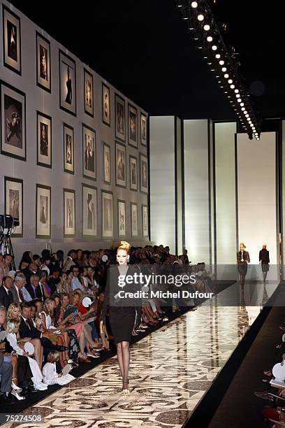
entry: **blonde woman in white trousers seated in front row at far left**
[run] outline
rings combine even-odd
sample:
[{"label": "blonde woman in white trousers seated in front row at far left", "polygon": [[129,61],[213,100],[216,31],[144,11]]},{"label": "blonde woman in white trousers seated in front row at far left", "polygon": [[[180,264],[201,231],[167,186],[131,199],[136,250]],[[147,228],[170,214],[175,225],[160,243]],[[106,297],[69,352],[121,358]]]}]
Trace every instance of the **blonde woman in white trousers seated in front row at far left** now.
[{"label": "blonde woman in white trousers seated in front row at far left", "polygon": [[35,390],[44,391],[47,389],[47,386],[42,382],[43,376],[38,366],[38,363],[36,362],[36,359],[31,358],[29,354],[17,344],[17,334],[19,331],[19,327],[20,322],[18,322],[17,320],[8,320],[6,325],[7,341],[10,343],[10,346],[13,348],[13,350],[15,350],[17,355],[22,355],[23,357],[27,357],[29,359],[29,366],[31,369],[31,373],[33,374],[31,380],[34,383],[34,388]]}]

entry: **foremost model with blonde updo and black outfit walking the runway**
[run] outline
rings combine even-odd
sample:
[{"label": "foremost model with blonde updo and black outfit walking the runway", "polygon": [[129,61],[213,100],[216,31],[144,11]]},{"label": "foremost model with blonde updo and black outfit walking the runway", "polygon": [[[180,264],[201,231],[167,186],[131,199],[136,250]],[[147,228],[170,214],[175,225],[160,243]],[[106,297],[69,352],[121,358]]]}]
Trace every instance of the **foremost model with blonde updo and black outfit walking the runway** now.
[{"label": "foremost model with blonde updo and black outfit walking the runway", "polygon": [[139,290],[139,285],[135,283],[122,285],[122,279],[125,278],[126,274],[128,277],[133,276],[136,269],[134,266],[128,266],[130,248],[131,245],[126,241],[119,243],[117,248],[117,262],[119,265],[110,268],[101,315],[101,319],[105,322],[105,314],[109,307],[110,327],[117,346],[119,369],[123,380],[123,395],[129,394],[129,343],[136,318],[136,306],[139,305],[138,299],[124,298],[125,293],[133,293]]}]

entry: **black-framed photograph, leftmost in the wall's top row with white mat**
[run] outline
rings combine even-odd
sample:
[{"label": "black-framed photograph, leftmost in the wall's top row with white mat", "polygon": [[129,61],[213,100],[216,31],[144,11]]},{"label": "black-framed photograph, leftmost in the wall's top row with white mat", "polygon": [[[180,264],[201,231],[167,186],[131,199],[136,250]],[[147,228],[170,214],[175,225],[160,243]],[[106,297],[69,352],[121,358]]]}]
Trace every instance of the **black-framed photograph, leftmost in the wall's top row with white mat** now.
[{"label": "black-framed photograph, leftmost in the wall's top row with white mat", "polygon": [[3,5],[3,63],[21,75],[21,61],[20,17]]}]

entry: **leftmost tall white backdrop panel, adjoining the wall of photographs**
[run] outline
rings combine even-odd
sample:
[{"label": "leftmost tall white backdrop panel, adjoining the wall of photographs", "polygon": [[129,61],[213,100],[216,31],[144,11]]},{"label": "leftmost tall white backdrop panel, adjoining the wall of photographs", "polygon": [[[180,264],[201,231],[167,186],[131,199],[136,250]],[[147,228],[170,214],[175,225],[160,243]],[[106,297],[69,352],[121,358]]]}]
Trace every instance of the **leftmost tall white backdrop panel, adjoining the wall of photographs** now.
[{"label": "leftmost tall white backdrop panel, adjoining the wall of photographs", "polygon": [[175,117],[149,117],[151,240],[175,254]]}]

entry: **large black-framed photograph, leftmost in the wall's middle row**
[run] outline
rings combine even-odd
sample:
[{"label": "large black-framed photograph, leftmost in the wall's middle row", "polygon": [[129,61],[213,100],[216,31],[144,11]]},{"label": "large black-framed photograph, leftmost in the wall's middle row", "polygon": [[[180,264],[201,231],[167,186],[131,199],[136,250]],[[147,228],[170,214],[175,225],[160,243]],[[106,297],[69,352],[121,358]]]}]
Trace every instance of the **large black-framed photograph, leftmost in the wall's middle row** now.
[{"label": "large black-framed photograph, leftmost in the wall's middle row", "polygon": [[1,154],[26,160],[26,95],[1,82]]}]

